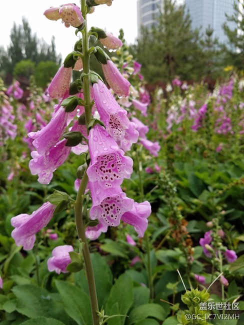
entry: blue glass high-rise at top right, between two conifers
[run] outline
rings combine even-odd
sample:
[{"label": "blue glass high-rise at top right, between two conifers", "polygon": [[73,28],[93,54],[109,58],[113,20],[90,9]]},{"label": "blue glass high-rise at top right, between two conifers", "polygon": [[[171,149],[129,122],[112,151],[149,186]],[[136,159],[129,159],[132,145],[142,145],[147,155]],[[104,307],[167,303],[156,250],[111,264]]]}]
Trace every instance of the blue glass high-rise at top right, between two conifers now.
[{"label": "blue glass high-rise at top right, between two conifers", "polygon": [[234,0],[185,0],[185,10],[189,12],[192,29],[201,28],[204,33],[210,26],[213,29],[213,37],[217,37],[220,43],[227,42],[222,25],[227,22],[230,29],[235,28],[234,22],[227,21],[225,13],[231,16]]}]

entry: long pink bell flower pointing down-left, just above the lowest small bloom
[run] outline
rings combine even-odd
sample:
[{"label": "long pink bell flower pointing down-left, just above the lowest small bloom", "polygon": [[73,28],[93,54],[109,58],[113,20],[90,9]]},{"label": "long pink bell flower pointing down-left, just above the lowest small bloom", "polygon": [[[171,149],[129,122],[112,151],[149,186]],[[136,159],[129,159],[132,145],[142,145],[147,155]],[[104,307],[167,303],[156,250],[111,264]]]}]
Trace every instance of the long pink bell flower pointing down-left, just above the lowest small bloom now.
[{"label": "long pink bell flower pointing down-left, just above the lowest small bloom", "polygon": [[11,236],[17,246],[22,245],[23,249],[33,248],[35,233],[45,227],[52,218],[55,205],[45,202],[30,215],[21,213],[11,218],[11,225],[14,227]]}]

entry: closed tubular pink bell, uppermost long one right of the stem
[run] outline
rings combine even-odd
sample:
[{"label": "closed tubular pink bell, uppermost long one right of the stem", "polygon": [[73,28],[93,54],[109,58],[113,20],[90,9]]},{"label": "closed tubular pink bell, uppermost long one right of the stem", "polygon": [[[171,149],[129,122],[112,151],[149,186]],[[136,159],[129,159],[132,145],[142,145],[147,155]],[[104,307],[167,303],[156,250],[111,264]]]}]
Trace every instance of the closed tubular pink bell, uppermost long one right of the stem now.
[{"label": "closed tubular pink bell, uppermost long one right of the stem", "polygon": [[130,83],[118,71],[116,65],[107,60],[106,64],[101,64],[102,71],[107,83],[118,96],[128,96]]}]

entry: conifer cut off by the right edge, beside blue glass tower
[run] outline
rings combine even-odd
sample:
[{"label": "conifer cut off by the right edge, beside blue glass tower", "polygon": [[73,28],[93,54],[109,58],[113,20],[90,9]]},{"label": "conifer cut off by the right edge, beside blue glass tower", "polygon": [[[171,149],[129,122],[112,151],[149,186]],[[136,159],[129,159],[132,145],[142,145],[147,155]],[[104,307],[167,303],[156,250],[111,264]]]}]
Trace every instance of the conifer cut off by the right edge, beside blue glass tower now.
[{"label": "conifer cut off by the right edge, beside blue glass tower", "polygon": [[235,0],[233,4],[234,13],[226,15],[228,21],[235,23],[235,28],[231,29],[226,23],[223,29],[228,37],[229,45],[225,46],[226,61],[231,62],[237,69],[243,70],[244,64],[244,2]]}]

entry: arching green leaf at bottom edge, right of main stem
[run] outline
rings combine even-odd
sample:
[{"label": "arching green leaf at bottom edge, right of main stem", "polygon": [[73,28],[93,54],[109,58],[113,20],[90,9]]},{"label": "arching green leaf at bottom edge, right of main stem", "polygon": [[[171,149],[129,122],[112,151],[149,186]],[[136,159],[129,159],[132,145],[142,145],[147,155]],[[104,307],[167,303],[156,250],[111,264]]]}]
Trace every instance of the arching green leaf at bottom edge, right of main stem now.
[{"label": "arching green leaf at bottom edge, right of main stem", "polygon": [[146,303],[132,309],[129,314],[128,325],[135,324],[139,320],[147,317],[157,318],[163,320],[166,317],[164,308],[157,303]]}]

